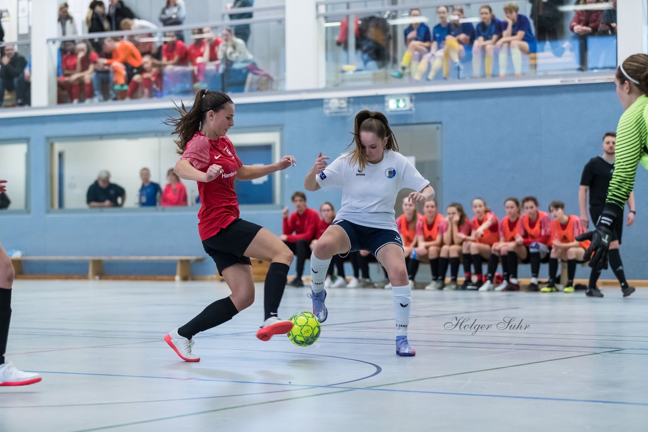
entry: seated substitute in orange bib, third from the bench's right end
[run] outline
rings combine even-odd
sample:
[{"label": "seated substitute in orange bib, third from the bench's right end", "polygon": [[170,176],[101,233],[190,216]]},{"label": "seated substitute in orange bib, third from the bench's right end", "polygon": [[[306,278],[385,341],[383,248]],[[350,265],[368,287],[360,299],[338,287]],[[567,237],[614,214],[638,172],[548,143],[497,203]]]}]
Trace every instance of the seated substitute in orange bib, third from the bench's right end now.
[{"label": "seated substitute in orange bib, third from the bench's right end", "polygon": [[[509,249],[515,249],[515,238],[520,233],[520,201],[517,198],[507,198],[504,201],[506,216],[500,221],[500,241],[491,247],[491,258],[488,263],[487,281],[480,291],[503,291],[509,284]],[[493,286],[497,264],[502,260],[502,284]]]}]

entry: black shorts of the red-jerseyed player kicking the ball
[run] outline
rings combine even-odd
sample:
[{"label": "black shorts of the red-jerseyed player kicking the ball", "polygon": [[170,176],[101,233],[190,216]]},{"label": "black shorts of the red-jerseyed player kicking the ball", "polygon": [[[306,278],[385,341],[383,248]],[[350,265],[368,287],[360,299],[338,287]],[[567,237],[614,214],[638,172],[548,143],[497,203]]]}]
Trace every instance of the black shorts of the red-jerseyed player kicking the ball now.
[{"label": "black shorts of the red-jerseyed player kicking the ball", "polygon": [[252,265],[249,258],[243,254],[261,228],[256,223],[237,219],[216,235],[203,240],[205,252],[216,263],[219,275],[222,276],[223,270],[234,264]]}]

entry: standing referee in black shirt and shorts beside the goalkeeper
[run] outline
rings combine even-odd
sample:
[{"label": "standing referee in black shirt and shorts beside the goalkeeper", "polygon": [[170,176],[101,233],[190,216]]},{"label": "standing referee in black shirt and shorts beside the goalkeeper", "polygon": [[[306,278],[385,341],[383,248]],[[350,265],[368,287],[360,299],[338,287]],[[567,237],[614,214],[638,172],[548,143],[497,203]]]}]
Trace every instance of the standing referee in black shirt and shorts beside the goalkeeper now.
[{"label": "standing referee in black shirt and shorts beside the goalkeeper", "polygon": [[[590,220],[587,217],[587,192],[590,192],[590,211],[591,220],[596,223],[603,212],[605,207],[605,199],[607,197],[607,190],[612,179],[614,172],[614,146],[616,144],[616,133],[606,132],[603,135],[603,154],[593,157],[583,168],[583,175],[581,176],[581,187],[578,192],[578,203],[581,209],[581,225],[583,228],[588,228]],[[627,216],[627,225],[630,226],[634,223],[635,207],[634,207],[634,192],[631,192],[628,198],[628,208],[630,212]],[[627,292],[629,285],[625,280],[625,273],[623,272],[623,264],[621,263],[621,255],[619,255],[619,245],[621,244],[621,233],[623,231],[623,223],[617,223],[614,231],[612,231],[610,249],[608,258],[610,266],[616,279],[621,284],[621,290]],[[603,297],[603,293],[597,288],[596,282],[601,275],[600,269],[592,269],[590,273],[590,281],[585,294],[589,297]],[[634,291],[632,288],[631,291]]]}]

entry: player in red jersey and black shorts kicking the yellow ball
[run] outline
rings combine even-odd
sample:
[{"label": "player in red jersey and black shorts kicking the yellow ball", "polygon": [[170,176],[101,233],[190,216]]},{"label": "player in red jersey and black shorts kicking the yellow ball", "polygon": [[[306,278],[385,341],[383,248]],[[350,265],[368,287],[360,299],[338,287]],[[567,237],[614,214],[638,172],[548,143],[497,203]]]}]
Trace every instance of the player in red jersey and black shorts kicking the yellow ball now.
[{"label": "player in red jersey and black shorts kicking the yellow ball", "polygon": [[209,304],[189,323],[165,336],[165,341],[185,361],[200,361],[192,353],[192,337],[226,321],[254,301],[254,282],[249,257],[269,261],[264,287],[265,318],[257,337],[267,341],[275,334],[286,334],[291,321],[277,316],[286,286],[286,275],[293,255],[277,236],[239,216],[234,179],[251,180],[295,165],[295,158],[284,156],[272,165],[243,165],[226,134],[234,126],[234,103],[222,91],[201,89],[187,111],[178,108],[179,119],[165,123],[174,126],[181,154],[174,172],[185,180],[198,182],[202,207],[198,212],[198,232],[205,252],[232,291],[229,297]]}]

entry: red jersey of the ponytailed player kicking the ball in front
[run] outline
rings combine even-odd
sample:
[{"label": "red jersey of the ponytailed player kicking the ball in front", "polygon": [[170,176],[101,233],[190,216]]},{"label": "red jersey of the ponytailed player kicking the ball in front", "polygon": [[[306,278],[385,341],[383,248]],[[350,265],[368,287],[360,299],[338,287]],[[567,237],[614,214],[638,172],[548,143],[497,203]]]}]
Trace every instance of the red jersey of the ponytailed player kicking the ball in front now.
[{"label": "red jersey of the ponytailed player kicking the ball in front", "polygon": [[200,132],[196,132],[187,142],[180,160],[191,162],[196,170],[202,172],[207,172],[207,168],[214,163],[223,168],[223,174],[209,183],[197,182],[202,203],[198,212],[198,232],[200,240],[207,240],[240,216],[234,177],[243,163],[238,159],[229,138],[220,137],[214,141]]}]

